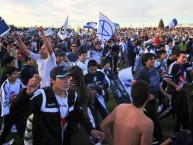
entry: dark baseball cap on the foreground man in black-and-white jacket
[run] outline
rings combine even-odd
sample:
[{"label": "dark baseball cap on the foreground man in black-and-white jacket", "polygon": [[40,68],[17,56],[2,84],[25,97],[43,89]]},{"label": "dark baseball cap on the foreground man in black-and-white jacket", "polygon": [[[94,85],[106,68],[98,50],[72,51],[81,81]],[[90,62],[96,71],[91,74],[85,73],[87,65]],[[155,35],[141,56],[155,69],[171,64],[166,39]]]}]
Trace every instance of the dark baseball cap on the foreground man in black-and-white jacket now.
[{"label": "dark baseball cap on the foreground man in black-and-white jacket", "polygon": [[72,76],[72,74],[66,70],[64,66],[56,66],[50,71],[50,78],[64,78],[66,76]]}]

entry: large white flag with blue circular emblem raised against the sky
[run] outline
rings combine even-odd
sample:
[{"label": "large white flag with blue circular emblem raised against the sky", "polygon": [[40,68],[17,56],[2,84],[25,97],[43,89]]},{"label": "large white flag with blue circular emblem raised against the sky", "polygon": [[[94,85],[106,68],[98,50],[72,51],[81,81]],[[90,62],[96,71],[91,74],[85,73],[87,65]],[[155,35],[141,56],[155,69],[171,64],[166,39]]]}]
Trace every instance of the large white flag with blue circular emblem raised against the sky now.
[{"label": "large white flag with blue circular emblem raised against the sky", "polygon": [[109,40],[113,36],[115,31],[114,23],[111,22],[105,15],[100,13],[97,36],[101,42]]}]

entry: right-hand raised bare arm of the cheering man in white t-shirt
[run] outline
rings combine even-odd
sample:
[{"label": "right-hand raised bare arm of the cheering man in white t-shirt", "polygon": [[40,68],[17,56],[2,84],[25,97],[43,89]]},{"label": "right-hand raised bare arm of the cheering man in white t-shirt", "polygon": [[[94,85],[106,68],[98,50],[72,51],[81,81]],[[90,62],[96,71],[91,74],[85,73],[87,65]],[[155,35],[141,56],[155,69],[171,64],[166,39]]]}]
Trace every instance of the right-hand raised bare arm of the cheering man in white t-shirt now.
[{"label": "right-hand raised bare arm of the cheering man in white t-shirt", "polygon": [[48,54],[51,55],[53,53],[52,45],[50,41],[47,39],[47,37],[44,34],[44,28],[42,26],[38,27],[38,31],[40,32],[40,35],[44,41],[44,45],[46,46],[46,49],[48,51]]}]

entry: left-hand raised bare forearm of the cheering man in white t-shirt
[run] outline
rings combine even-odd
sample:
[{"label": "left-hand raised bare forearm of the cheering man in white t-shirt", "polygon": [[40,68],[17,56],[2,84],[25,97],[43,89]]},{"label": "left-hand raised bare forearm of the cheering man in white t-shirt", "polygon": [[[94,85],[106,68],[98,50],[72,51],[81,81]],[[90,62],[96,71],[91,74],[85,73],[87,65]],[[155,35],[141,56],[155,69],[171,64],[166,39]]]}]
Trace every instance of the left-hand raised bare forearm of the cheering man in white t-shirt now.
[{"label": "left-hand raised bare forearm of the cheering man in white t-shirt", "polygon": [[21,40],[21,37],[16,33],[12,33],[12,37],[17,41],[20,49],[23,51],[24,55],[29,56],[30,55],[30,50],[27,48],[27,46],[23,43]]}]

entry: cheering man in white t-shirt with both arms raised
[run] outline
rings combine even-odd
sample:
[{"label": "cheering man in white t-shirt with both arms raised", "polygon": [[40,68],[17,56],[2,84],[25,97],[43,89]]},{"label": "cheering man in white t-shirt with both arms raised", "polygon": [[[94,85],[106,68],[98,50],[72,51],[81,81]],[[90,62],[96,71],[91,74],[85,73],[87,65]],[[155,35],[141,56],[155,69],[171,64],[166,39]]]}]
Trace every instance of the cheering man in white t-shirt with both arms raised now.
[{"label": "cheering man in white t-shirt with both arms raised", "polygon": [[16,32],[13,32],[12,36],[18,42],[23,53],[26,56],[29,56],[30,58],[34,59],[38,64],[38,72],[41,77],[40,87],[42,88],[50,86],[50,70],[56,66],[56,57],[49,40],[44,34],[43,27],[40,26],[38,28],[38,31],[40,32],[40,35],[44,41],[44,44],[39,51],[39,54],[30,51]]}]

